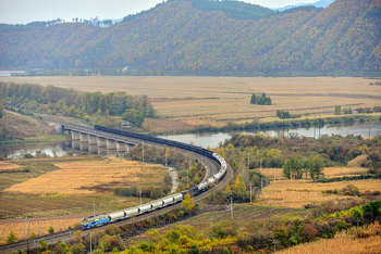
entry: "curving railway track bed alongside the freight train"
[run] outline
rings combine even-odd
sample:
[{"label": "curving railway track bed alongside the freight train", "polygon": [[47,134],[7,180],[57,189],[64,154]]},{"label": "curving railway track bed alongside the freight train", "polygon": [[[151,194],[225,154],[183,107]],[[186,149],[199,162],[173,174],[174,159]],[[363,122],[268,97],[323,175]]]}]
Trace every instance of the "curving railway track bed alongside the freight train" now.
[{"label": "curving railway track bed alongside the freight train", "polygon": [[[159,147],[162,145],[160,143],[155,143],[155,142],[150,142],[150,143],[155,144],[155,145],[159,145]],[[165,145],[170,147],[168,144],[165,144]],[[219,172],[220,165],[218,165],[216,161],[212,161],[211,158],[209,158],[205,155],[198,154],[194,151],[188,151],[186,149],[179,149],[179,148],[176,148],[176,149],[186,153],[187,155],[190,155],[190,156],[197,158],[198,161],[200,161],[204,164],[204,166],[206,166],[207,174],[206,174],[204,180],[207,179],[209,176],[212,176]],[[198,202],[202,201],[204,199],[206,199],[210,193],[224,189],[231,179],[233,179],[233,170],[228,165],[225,177],[216,187],[200,193],[199,195],[196,195],[194,198],[195,202],[198,203]],[[177,203],[177,204],[174,204],[172,206],[161,208],[159,211],[153,211],[151,213],[144,214],[144,215],[140,215],[140,216],[137,216],[134,218],[130,218],[126,220],[114,223],[113,225],[122,226],[122,225],[133,224],[136,221],[142,221],[142,220],[148,219],[148,218],[153,217],[153,216],[162,215],[162,214],[164,214],[164,213],[167,213],[175,207],[179,207],[180,205],[181,205],[181,203]],[[103,229],[105,229],[105,226],[99,227],[99,228],[93,228],[93,229],[89,229],[86,231],[82,231],[82,230],[81,231],[82,231],[82,236],[86,237],[93,232],[100,231]],[[29,240],[19,241],[19,242],[12,243],[12,244],[0,245],[0,253],[10,253],[10,252],[17,252],[17,251],[25,252],[28,250],[35,250],[35,249],[39,247],[40,240],[44,240],[49,245],[56,244],[56,243],[59,243],[62,241],[67,242],[71,240],[71,238],[73,237],[75,231],[78,231],[78,230],[65,230],[65,231],[61,231],[61,232],[57,232],[57,233],[52,233],[52,234],[47,234],[47,236],[41,236],[41,237],[29,239]]]}]

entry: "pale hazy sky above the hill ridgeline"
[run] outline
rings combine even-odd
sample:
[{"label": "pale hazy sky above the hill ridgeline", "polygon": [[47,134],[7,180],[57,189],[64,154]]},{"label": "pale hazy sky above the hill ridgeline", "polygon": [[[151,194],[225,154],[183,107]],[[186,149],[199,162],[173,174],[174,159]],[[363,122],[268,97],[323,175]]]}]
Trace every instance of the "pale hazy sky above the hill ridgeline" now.
[{"label": "pale hazy sky above the hill ridgeline", "polygon": [[[244,0],[268,8],[279,8],[318,0]],[[163,0],[0,0],[0,23],[25,24],[73,17],[120,18],[150,9]]]}]

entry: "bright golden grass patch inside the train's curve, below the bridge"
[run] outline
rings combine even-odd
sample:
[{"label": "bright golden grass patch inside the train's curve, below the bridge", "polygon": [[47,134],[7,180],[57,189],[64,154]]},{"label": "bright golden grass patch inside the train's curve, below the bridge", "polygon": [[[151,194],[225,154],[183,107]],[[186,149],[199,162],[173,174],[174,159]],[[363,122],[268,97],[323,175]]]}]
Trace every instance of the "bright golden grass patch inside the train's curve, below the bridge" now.
[{"label": "bright golden grass patch inside the train's curve, below the bridge", "polygon": [[167,169],[122,158],[56,163],[61,169],[14,185],[5,192],[28,194],[90,194],[97,186],[110,188],[162,182]]}]

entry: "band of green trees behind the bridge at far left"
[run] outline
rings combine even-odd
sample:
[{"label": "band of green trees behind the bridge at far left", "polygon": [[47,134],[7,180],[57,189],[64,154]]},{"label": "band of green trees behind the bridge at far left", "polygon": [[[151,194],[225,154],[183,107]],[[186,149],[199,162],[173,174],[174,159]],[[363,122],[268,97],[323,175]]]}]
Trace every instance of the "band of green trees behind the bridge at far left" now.
[{"label": "band of green trees behind the bridge at far left", "polygon": [[0,82],[0,99],[7,109],[24,114],[61,114],[91,123],[101,120],[106,125],[112,116],[123,117],[136,126],[140,126],[145,117],[155,116],[155,110],[147,97],[132,97],[124,92],[102,94]]}]

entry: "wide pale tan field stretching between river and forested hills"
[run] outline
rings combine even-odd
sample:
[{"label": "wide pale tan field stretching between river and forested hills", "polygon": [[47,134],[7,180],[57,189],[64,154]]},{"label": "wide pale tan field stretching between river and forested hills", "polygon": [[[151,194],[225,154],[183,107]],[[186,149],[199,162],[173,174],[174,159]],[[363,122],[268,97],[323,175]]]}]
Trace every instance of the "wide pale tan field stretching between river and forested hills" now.
[{"label": "wide pale tan field stretching between river and forested hills", "polygon": [[[29,82],[83,91],[125,91],[148,96],[165,119],[179,125],[269,120],[276,110],[294,114],[329,116],[334,105],[380,105],[381,87],[372,79],[353,77],[0,77],[0,81]],[[266,92],[273,105],[250,105],[251,93]],[[176,128],[165,119],[161,125]],[[150,124],[148,128],[156,129]],[[179,126],[177,126],[179,127]]]}]

